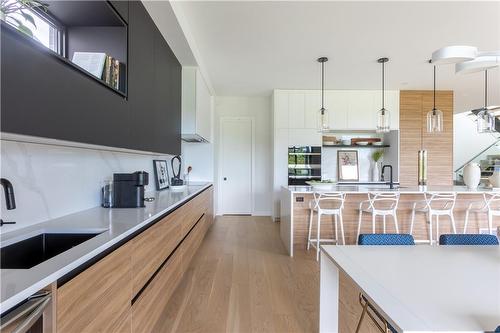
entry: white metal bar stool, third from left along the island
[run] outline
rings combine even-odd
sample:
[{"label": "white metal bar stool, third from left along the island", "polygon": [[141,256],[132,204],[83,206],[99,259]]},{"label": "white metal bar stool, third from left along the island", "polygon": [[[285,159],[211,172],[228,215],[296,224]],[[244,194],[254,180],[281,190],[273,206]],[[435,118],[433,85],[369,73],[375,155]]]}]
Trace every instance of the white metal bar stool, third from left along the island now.
[{"label": "white metal bar stool, third from left along the island", "polygon": [[[439,239],[439,217],[448,216],[450,219],[451,228],[453,233],[457,233],[457,227],[455,226],[455,218],[453,216],[453,208],[455,208],[455,202],[457,199],[457,194],[454,192],[441,192],[441,193],[424,193],[424,200],[417,201],[413,203],[411,210],[411,223],[410,223],[410,235],[413,236],[413,226],[415,224],[415,214],[424,213],[427,216],[427,222],[429,223],[429,239],[428,240],[415,240],[415,242],[429,242],[433,244]],[[433,217],[436,217],[436,241],[432,237],[433,228]]]}]

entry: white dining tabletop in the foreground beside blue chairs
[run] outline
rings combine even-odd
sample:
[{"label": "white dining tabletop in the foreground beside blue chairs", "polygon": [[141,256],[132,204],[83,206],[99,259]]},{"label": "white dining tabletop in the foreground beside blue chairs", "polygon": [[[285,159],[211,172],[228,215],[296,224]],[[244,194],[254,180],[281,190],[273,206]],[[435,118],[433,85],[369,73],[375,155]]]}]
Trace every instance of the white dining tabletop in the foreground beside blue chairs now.
[{"label": "white dining tabletop in the foreground beside blue chairs", "polygon": [[498,246],[322,246],[398,332],[500,325]]}]

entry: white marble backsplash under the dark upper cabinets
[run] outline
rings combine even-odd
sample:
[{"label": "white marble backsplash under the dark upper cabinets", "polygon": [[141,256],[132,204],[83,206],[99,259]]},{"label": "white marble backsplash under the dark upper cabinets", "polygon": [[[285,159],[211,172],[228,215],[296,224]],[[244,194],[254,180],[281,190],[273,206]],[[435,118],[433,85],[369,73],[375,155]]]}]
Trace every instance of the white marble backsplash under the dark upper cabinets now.
[{"label": "white marble backsplash under the dark upper cabinets", "polygon": [[14,186],[17,208],[6,210],[1,193],[1,216],[7,232],[100,205],[100,189],[116,172],[146,171],[155,189],[153,159],[172,156],[112,152],[46,144],[0,141],[1,176]]}]

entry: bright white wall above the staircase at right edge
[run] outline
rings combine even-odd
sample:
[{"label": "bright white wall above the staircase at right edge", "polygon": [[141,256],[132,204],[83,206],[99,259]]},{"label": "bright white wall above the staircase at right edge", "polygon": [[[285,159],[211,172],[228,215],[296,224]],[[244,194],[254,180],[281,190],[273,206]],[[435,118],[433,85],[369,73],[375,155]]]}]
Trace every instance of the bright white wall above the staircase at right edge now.
[{"label": "bright white wall above the staircase at right edge", "polygon": [[498,135],[479,134],[470,112],[453,115],[453,170],[495,142]]}]

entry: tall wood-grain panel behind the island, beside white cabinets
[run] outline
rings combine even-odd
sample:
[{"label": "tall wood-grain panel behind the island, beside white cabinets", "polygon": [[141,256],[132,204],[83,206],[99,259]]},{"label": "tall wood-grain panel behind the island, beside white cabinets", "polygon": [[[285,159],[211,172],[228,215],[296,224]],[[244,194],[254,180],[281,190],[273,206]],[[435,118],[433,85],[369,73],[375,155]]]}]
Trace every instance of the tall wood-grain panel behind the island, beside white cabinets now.
[{"label": "tall wood-grain panel behind the island, beside white cabinets", "polygon": [[437,91],[436,107],[443,112],[444,131],[427,133],[427,112],[433,107],[433,92],[400,92],[400,183],[417,185],[417,152],[427,150],[428,185],[453,184],[453,91]]}]

